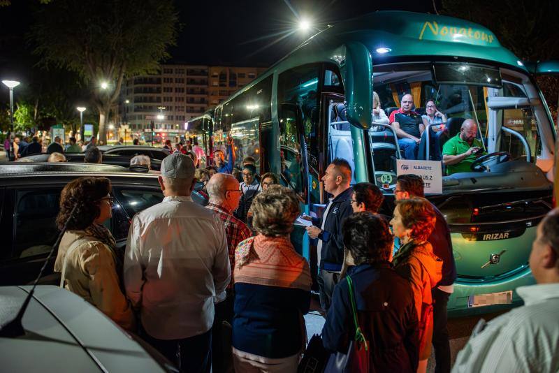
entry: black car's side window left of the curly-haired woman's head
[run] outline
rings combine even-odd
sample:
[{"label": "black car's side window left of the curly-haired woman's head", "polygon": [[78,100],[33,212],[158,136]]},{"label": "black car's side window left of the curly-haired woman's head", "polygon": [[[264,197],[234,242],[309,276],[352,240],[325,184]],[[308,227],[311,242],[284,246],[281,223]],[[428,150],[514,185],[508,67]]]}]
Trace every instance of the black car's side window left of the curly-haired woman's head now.
[{"label": "black car's side window left of the curly-haired woman's head", "polygon": [[12,258],[48,253],[59,234],[56,217],[61,188],[17,191]]}]

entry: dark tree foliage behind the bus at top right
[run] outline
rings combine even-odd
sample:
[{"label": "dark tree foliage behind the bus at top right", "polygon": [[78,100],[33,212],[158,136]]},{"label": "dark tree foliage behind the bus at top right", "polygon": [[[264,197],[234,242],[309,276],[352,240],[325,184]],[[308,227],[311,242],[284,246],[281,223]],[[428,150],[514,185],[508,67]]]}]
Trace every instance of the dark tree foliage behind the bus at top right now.
[{"label": "dark tree foliage behind the bus at top right", "polygon": [[[500,43],[525,61],[559,59],[559,1],[442,0],[441,13],[487,27]],[[552,110],[557,110],[559,79],[538,78]]]}]

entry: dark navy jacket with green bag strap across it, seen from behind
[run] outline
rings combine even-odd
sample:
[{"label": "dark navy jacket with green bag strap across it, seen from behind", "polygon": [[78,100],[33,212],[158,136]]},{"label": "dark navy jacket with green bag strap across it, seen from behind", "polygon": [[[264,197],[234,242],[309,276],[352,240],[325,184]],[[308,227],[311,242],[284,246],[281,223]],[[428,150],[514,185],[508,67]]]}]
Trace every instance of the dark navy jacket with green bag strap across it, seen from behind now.
[{"label": "dark navy jacket with green bag strap across it, seen from behind", "polygon": [[[409,282],[389,262],[350,267],[357,319],[369,344],[370,372],[416,372],[419,323]],[[322,329],[328,351],[347,353],[355,337],[347,279],[334,288],[332,305]]]}]

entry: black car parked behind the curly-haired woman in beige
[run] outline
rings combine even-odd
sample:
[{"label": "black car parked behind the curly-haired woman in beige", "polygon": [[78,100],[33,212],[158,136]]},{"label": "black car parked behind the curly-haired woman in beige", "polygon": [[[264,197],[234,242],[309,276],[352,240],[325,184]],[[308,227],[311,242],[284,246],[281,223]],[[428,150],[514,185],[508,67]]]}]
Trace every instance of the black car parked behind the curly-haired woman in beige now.
[{"label": "black car parked behind the curly-haired woman in beige", "polygon": [[[129,173],[117,166],[87,163],[3,163],[0,165],[0,286],[34,281],[55,243],[59,230],[60,192],[82,176],[108,177],[112,182],[112,218],[106,226],[124,249],[131,219],[136,212],[161,202],[163,193],[157,175]],[[192,193],[196,203],[207,201]],[[56,284],[53,256],[42,284]]]}]

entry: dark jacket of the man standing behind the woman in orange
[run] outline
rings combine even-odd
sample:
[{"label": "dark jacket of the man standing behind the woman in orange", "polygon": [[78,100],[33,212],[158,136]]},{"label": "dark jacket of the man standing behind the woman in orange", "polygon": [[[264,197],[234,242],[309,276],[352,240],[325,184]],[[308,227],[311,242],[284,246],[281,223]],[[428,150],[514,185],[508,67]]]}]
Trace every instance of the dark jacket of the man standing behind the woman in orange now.
[{"label": "dark jacket of the man standing behind the woman in orange", "polygon": [[442,279],[438,285],[452,285],[456,279],[456,263],[452,251],[450,228],[442,213],[433,205],[437,222],[433,232],[427,239],[433,246],[433,254],[442,259]]}]

